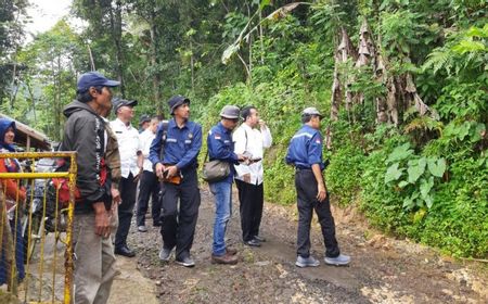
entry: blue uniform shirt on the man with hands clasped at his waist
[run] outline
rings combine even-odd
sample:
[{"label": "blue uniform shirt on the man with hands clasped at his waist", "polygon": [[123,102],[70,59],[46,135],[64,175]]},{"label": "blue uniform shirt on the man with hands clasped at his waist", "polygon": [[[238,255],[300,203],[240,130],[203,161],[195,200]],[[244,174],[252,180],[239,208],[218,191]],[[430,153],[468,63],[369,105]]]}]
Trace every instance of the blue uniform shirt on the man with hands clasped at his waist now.
[{"label": "blue uniform shirt on the man with hands clasped at his waist", "polygon": [[160,160],[163,132],[163,124],[159,124],[150,148],[149,160],[153,165],[157,163],[176,165],[179,170],[196,168],[198,166],[196,157],[202,148],[202,126],[187,122],[182,128],[179,128],[175,119],[170,119],[166,134],[165,155],[164,160]]}]

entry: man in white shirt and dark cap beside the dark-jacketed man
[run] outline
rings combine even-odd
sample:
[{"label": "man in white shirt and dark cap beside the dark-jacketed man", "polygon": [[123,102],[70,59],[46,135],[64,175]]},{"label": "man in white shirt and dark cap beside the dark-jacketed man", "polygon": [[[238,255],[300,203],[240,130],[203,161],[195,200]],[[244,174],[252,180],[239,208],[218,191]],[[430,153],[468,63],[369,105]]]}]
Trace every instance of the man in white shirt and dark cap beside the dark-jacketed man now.
[{"label": "man in white shirt and dark cap beside the dark-jacketed man", "polygon": [[111,128],[115,132],[120,152],[119,191],[121,203],[118,206],[118,228],[115,233],[114,253],[127,257],[136,256],[136,253],[127,245],[130,220],[132,219],[133,205],[136,204],[137,179],[142,173],[142,153],[139,149],[139,132],[132,127],[133,106],[136,100],[118,99],[114,101],[114,112],[117,118],[111,122]]}]

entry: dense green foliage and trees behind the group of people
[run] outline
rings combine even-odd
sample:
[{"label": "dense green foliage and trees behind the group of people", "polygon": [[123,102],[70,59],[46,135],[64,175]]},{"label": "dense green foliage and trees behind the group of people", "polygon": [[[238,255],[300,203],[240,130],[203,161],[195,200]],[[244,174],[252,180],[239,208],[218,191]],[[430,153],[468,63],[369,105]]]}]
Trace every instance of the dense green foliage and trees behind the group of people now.
[{"label": "dense green foliage and trees behind the group of people", "polygon": [[267,199],[292,204],[283,157],[299,112],[317,106],[331,113],[322,127],[336,202],[393,235],[486,257],[486,1],[291,2],[75,0],[88,27],[62,21],[17,50],[26,69],[1,111],[59,139],[60,109],[92,68],[123,80],[118,93],[140,100],[138,113],[189,96],[205,129],[224,104],[255,104],[274,139]]}]

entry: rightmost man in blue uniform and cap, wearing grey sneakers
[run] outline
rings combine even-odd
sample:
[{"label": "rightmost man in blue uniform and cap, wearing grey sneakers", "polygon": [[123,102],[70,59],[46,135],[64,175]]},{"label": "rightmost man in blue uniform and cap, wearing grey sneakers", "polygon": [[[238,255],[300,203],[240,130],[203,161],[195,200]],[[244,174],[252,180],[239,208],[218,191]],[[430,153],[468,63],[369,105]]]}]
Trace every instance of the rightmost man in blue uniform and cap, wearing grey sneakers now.
[{"label": "rightmost man in blue uniform and cap, wearing grey sneakers", "polygon": [[298,206],[297,259],[298,267],[317,267],[320,262],[310,255],[310,224],[313,210],[319,218],[325,243],[324,262],[328,265],[345,266],[350,257],[341,254],[335,238],[329,194],[322,177],[322,115],[316,107],[307,107],[301,113],[301,128],[292,138],[286,153],[286,164],[295,166],[295,188]]}]

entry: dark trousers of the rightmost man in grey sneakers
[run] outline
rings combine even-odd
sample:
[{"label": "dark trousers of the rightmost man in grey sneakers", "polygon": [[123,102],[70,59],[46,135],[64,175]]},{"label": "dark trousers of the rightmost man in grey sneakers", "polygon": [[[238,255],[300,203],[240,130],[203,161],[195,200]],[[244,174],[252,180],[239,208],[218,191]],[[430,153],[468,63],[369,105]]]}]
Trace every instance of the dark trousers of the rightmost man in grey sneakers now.
[{"label": "dark trousers of the rightmost man in grey sneakers", "polygon": [[336,257],[341,251],[335,238],[335,224],[331,213],[329,193],[325,201],[317,201],[317,180],[311,169],[296,170],[295,187],[298,200],[297,254],[303,257],[310,255],[310,224],[314,210],[322,228],[325,255]]}]

